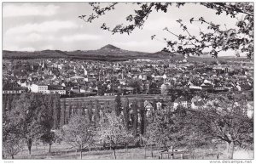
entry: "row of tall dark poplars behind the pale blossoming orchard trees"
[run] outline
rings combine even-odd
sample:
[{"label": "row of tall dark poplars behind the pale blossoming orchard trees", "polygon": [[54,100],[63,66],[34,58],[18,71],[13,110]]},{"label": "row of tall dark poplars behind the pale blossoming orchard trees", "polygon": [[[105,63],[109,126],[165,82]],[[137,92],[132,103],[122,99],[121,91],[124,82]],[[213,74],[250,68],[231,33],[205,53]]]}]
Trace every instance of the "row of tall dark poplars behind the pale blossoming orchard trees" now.
[{"label": "row of tall dark poplars behind the pale blossoming orchard trees", "polygon": [[[157,110],[156,100],[154,99],[150,105],[153,105],[153,110]],[[152,111],[148,112],[150,115]],[[114,101],[106,101],[103,105],[99,100],[90,102],[72,100],[61,102],[61,125],[65,125],[69,122],[73,115],[89,117],[90,121],[98,122],[108,113],[114,112],[116,116],[122,116],[124,125],[127,130],[131,130],[134,136],[143,134],[146,128],[146,110],[144,106],[144,99],[123,101],[118,94]],[[64,119],[64,120],[63,120]]]}]

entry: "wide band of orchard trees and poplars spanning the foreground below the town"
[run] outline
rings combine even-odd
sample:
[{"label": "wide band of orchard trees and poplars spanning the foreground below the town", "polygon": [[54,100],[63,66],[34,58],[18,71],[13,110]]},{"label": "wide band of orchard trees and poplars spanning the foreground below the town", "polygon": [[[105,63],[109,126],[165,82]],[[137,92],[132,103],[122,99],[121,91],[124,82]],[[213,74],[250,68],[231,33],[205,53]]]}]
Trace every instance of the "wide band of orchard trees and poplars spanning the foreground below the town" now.
[{"label": "wide band of orchard trees and poplars spanning the foreground below the town", "polygon": [[69,105],[67,115],[61,112],[58,94],[23,93],[4,99],[8,103],[3,113],[3,154],[12,158],[24,145],[31,155],[36,141],[49,144],[49,151],[52,144],[65,142],[79,150],[81,158],[84,149],[110,147],[115,159],[117,147],[134,144],[194,150],[226,143],[229,159],[236,146],[253,149],[253,109],[236,94],[210,94],[195,110],[157,108],[154,101],[149,111],[143,99],[122,102],[118,94],[105,105],[98,100],[86,108],[81,102]]}]

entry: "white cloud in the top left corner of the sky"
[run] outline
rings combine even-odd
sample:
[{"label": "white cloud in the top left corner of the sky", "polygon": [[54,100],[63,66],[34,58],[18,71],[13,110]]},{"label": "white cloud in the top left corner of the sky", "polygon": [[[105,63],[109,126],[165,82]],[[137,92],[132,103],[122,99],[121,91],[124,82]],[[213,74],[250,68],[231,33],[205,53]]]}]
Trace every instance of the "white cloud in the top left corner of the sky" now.
[{"label": "white cloud in the top left corner of the sky", "polygon": [[51,16],[57,12],[58,8],[60,7],[53,4],[40,6],[32,3],[23,3],[22,5],[3,3],[3,17]]}]

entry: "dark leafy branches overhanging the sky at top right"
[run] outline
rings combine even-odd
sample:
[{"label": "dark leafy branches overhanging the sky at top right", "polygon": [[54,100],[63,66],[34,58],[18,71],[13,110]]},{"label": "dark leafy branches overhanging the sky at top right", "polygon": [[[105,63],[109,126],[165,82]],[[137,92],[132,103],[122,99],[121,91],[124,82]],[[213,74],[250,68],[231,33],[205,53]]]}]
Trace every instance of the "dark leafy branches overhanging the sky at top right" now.
[{"label": "dark leafy branches overhanging the sky at top right", "polygon": [[[128,25],[115,25],[110,28],[106,23],[103,23],[101,28],[105,31],[110,31],[113,34],[130,34],[135,29],[143,29],[143,25],[148,19],[153,10],[167,13],[170,6],[181,8],[187,3],[134,3],[139,9],[135,9],[135,14],[130,14],[126,17]],[[198,3],[195,3],[198,4]],[[231,19],[236,19],[236,27],[227,29],[226,25],[214,24],[211,21],[205,20],[203,17],[192,17],[189,22],[191,24],[205,25],[206,31],[201,31],[197,36],[192,35],[189,31],[188,25],[183,20],[177,20],[185,34],[177,34],[167,27],[164,31],[176,37],[176,40],[164,38],[166,42],[166,50],[178,54],[212,54],[218,57],[218,53],[226,50],[236,51],[236,55],[241,53],[247,54],[247,58],[251,59],[253,56],[253,3],[199,3],[200,5],[213,9],[216,15],[226,14]],[[92,22],[107,14],[108,11],[116,8],[118,3],[108,3],[107,7],[102,7],[102,3],[90,3],[94,13],[89,16],[80,15],[79,18],[85,22]],[[242,17],[242,19],[241,19]],[[151,39],[157,39],[153,35]]]}]

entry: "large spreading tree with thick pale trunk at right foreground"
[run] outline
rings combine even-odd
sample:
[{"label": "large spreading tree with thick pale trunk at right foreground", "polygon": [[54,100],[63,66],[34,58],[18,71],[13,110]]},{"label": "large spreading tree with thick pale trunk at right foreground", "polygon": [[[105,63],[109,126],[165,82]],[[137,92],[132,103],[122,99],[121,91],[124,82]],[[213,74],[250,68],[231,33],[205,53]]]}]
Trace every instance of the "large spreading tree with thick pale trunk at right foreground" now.
[{"label": "large spreading tree with thick pale trunk at right foreground", "polygon": [[201,110],[192,110],[191,129],[201,139],[218,139],[227,143],[227,157],[233,158],[236,145],[250,148],[253,144],[253,117],[247,116],[247,101],[234,94],[212,95]]}]

